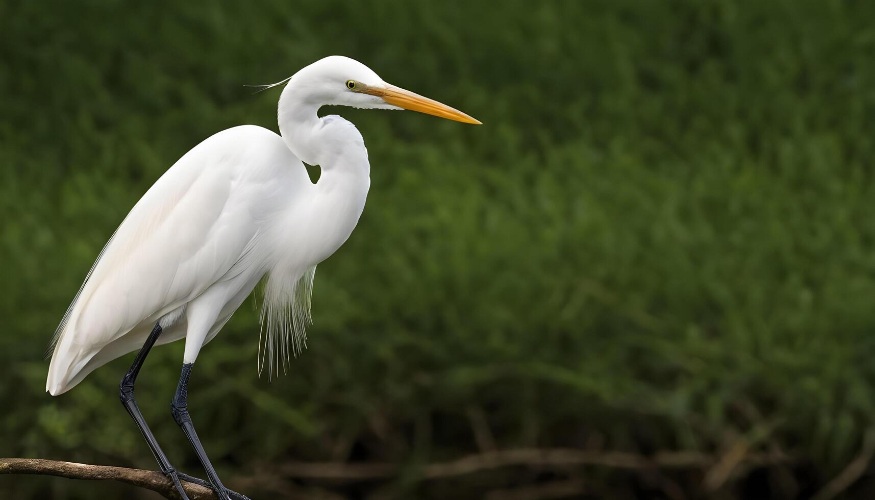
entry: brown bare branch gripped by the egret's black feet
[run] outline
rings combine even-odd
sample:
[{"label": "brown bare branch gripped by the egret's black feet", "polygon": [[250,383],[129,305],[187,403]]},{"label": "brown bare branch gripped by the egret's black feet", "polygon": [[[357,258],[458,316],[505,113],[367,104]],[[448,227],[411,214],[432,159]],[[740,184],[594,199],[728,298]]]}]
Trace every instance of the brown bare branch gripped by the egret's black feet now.
[{"label": "brown bare branch gripped by the egret's black feet", "polygon": [[[173,487],[173,482],[164,474],[155,470],[142,468],[111,467],[107,465],[89,465],[73,463],[72,461],[54,461],[38,458],[0,458],[0,474],[38,474],[57,475],[69,479],[113,480],[126,482],[144,489],[179,500],[179,493]],[[191,500],[218,500],[213,490],[206,482],[189,475],[181,475],[183,489]],[[232,498],[245,499],[239,493],[230,492]]]}]

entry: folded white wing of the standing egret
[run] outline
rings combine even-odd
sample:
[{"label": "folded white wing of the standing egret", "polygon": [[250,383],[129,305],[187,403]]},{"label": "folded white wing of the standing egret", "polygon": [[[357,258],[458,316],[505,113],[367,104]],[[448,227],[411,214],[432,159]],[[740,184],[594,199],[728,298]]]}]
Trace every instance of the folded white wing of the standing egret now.
[{"label": "folded white wing of the standing egret", "polygon": [[224,130],[180,158],[131,209],[88,273],[53,339],[47,385],[69,380],[109,342],[232,271],[251,253],[270,200],[288,187],[283,170],[290,161],[300,165],[281,137],[254,126]]}]

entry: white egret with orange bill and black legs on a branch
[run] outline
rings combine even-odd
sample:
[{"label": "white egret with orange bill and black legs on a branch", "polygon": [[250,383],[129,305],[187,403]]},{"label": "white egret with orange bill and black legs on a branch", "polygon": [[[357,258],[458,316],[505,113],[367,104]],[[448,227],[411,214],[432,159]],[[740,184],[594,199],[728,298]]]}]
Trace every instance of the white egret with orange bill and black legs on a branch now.
[{"label": "white egret with orange bill and black legs on a branch", "polygon": [[[158,446],[137,408],[134,381],[153,345],[186,339],[172,415],[206,469],[208,484],[228,498],[186,410],[193,363],[265,275],[262,330],[269,370],[290,349],[299,349],[316,265],[352,233],[370,186],[359,131],[340,116],[318,116],[318,109],[412,109],[479,123],[389,85],[342,56],[318,60],[286,81],[277,113],[280,134],[242,125],[179,158],[109,239],[52,340],[45,390],[53,396],[140,349],[122,379],[120,398],[183,498],[179,477],[190,476],[173,468]],[[319,165],[315,184],[302,161]]]}]

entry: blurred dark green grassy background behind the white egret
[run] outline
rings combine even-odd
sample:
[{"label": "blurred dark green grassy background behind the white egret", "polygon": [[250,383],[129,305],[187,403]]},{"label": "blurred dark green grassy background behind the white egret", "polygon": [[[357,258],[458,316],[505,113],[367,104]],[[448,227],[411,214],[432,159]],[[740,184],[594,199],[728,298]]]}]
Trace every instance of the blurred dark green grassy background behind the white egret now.
[{"label": "blurred dark green grassy background behind the white egret", "polygon": [[[323,109],[365,137],[371,192],[288,376],[256,377],[252,299],[199,357],[189,408],[229,487],[872,497],[873,21],[864,1],[2,0],[0,456],[156,468],[118,404],[132,356],[52,398],[45,345],[166,168],[276,130],[279,91],[244,85],[339,53],[485,124]],[[169,412],[182,348],[153,352],[138,401],[202,476]],[[554,448],[593,463],[532,452]],[[496,454],[517,460],[434,475]],[[353,477],[374,464],[397,468]]]}]

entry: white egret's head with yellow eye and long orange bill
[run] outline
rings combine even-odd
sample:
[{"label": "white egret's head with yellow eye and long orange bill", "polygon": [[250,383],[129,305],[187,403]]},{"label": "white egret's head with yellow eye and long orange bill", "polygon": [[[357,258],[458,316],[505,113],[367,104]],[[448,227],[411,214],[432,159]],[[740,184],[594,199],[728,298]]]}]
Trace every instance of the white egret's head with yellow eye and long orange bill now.
[{"label": "white egret's head with yellow eye and long orange bill", "polygon": [[480,122],[458,109],[383,81],[357,60],[328,56],[291,77],[297,91],[314,104],[335,104],[363,109],[410,109],[463,123]]}]

